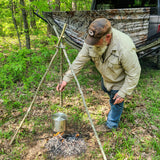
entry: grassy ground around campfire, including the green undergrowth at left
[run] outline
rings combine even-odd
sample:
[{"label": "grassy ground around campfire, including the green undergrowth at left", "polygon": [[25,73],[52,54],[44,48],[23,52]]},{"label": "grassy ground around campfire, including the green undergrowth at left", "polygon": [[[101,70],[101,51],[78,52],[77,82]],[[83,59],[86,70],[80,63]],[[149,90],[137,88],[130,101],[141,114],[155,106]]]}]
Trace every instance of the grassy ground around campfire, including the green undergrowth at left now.
[{"label": "grassy ground around campfire, including the green undergrowth at left", "polygon": [[[31,159],[46,159],[41,144],[47,137],[52,136],[51,117],[58,111],[68,115],[70,131],[80,132],[89,145],[87,153],[77,159],[103,159],[74,80],[63,92],[63,107],[59,105],[59,93],[55,91],[60,77],[59,57],[54,61],[14,144],[12,147],[6,145],[26,113],[37,85],[54,54],[53,40],[55,41],[53,38],[51,43],[44,37],[38,41],[33,39],[34,49],[29,51],[16,51],[15,43],[13,49],[12,43],[9,43],[9,50],[4,49],[6,44],[1,46],[0,159],[18,160],[26,155]],[[70,46],[66,48],[70,60],[73,61],[78,52]],[[134,93],[125,99],[119,130],[113,133],[98,132],[107,159],[160,159],[160,72],[151,67],[153,62],[147,61],[148,59],[141,62],[141,78]],[[64,72],[67,68],[64,60]],[[100,74],[92,62],[88,62],[78,75],[95,126],[100,126],[106,121],[104,113],[109,109],[109,98],[101,91],[100,79]],[[33,153],[32,157],[29,153],[34,148],[37,148],[37,152]]]}]

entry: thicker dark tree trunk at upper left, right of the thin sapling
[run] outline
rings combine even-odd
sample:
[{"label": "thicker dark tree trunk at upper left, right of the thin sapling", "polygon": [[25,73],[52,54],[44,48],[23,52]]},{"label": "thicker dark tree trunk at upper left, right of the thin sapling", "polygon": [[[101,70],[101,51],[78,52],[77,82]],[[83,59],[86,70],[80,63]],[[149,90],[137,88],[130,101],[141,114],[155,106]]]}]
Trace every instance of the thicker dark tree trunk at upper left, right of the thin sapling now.
[{"label": "thicker dark tree trunk at upper left, right of the thin sapling", "polygon": [[27,13],[25,10],[25,4],[24,0],[20,0],[20,4],[22,5],[22,17],[23,17],[23,22],[24,22],[24,32],[25,32],[25,37],[26,37],[26,48],[31,49],[30,47],[30,36],[29,36],[29,28],[28,28],[28,21],[27,21]]}]

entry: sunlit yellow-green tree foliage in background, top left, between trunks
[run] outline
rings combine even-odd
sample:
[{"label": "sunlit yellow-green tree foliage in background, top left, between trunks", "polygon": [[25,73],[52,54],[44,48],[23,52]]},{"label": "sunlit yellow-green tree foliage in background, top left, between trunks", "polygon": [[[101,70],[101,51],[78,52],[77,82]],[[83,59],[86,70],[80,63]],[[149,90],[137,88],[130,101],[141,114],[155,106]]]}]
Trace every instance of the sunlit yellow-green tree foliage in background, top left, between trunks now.
[{"label": "sunlit yellow-green tree foliage in background, top left, between trunks", "polygon": [[[14,16],[16,18],[18,31],[22,34],[24,32],[23,29],[23,19],[22,19],[22,13],[21,9],[23,8],[22,5],[20,5],[18,0],[13,0],[14,3]],[[90,10],[92,0],[88,1],[77,1],[77,10]],[[34,16],[36,20],[36,25],[38,28],[32,28],[31,27],[31,21],[33,20],[33,17],[31,16],[32,11],[38,11],[38,14],[42,15],[42,12],[48,12],[55,10],[55,1],[48,3],[47,0],[34,0],[30,2],[29,0],[25,1],[25,10],[27,12],[27,20],[30,26],[30,32],[33,34],[37,34],[39,32],[43,32],[44,29],[42,29],[44,26],[43,20],[40,18]],[[13,25],[12,20],[12,12],[11,12],[11,3],[8,0],[4,0],[0,2],[0,36],[17,36],[17,32],[15,30],[15,27]],[[71,0],[61,0],[60,5],[61,11],[71,11],[72,10],[72,1]],[[43,15],[42,15],[43,17]],[[7,19],[7,21],[6,21]],[[46,28],[46,24],[44,26]]]}]

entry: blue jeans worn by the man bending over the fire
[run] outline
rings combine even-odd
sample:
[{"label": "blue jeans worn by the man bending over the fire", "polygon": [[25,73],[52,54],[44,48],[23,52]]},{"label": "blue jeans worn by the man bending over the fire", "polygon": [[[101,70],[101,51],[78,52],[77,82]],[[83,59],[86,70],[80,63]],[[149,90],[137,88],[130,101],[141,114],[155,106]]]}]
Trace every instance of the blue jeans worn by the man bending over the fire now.
[{"label": "blue jeans worn by the man bending over the fire", "polygon": [[103,91],[108,93],[108,95],[110,97],[109,101],[110,101],[110,105],[111,105],[111,110],[108,114],[106,125],[110,129],[117,128],[118,123],[120,121],[122,111],[123,111],[124,102],[114,105],[115,100],[113,99],[113,97],[118,92],[118,90],[107,91],[107,89],[105,88],[104,83],[103,83],[103,78],[101,80],[101,87],[102,87]]}]

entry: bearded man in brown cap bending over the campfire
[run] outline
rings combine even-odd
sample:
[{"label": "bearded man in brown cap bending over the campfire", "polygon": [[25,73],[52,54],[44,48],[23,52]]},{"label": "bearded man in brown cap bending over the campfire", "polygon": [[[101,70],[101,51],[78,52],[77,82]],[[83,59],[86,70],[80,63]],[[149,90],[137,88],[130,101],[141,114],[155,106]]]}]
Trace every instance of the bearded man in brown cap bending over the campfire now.
[{"label": "bearded man in brown cap bending over the campfire", "polygon": [[[128,35],[111,27],[110,21],[98,18],[90,24],[82,50],[72,63],[75,74],[89,60],[102,75],[101,87],[110,97],[111,110],[105,125],[109,129],[117,128],[124,98],[132,93],[140,77],[136,47]],[[72,78],[68,70],[57,91],[63,91]]]}]

